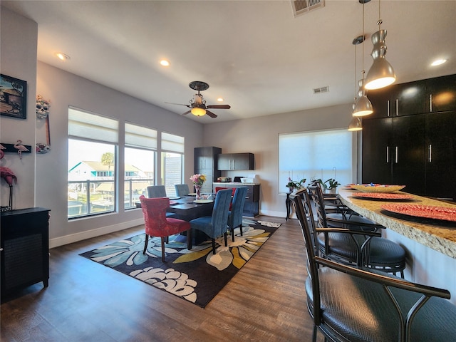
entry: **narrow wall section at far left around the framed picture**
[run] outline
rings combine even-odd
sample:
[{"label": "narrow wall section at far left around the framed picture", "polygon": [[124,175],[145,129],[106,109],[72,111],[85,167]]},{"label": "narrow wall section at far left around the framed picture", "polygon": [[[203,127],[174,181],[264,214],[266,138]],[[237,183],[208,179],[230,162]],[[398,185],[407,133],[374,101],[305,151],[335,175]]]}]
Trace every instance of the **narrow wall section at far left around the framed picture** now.
[{"label": "narrow wall section at far left around the framed picture", "polygon": [[[35,145],[35,93],[36,93],[36,41],[38,25],[1,7],[0,18],[0,71],[3,75],[27,82],[27,118],[0,117],[0,142]],[[24,153],[22,160],[16,153],[5,153],[0,166],[9,167],[18,179],[13,186],[13,208],[23,209],[35,205],[35,154]],[[0,181],[0,204],[9,204],[9,186]]]}]

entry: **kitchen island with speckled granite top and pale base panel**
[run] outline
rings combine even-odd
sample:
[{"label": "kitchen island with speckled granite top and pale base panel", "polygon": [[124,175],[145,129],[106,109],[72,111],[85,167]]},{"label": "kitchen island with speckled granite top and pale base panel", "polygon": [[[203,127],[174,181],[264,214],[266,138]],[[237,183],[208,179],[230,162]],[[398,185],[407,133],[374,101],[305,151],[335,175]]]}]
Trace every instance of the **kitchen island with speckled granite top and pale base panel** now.
[{"label": "kitchen island with speckled granite top and pale base panel", "polygon": [[[419,204],[456,209],[456,204],[412,195],[407,202],[391,202],[353,197],[356,191],[341,187],[341,202],[358,214],[382,224],[382,234],[405,248],[405,279],[448,289],[456,304],[456,222],[394,214],[382,209],[384,204]],[[405,192],[397,192],[403,193]],[[407,194],[410,195],[410,194]]]}]

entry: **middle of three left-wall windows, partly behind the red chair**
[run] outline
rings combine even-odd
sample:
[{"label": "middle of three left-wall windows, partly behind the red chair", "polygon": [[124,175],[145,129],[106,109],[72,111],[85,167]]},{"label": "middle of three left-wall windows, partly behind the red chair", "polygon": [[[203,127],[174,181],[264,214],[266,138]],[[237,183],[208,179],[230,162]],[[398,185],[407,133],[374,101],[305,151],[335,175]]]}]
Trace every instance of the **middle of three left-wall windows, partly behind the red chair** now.
[{"label": "middle of three left-wall windows, partly behind the red chair", "polygon": [[154,184],[157,131],[125,123],[125,209],[135,208],[147,186]]}]

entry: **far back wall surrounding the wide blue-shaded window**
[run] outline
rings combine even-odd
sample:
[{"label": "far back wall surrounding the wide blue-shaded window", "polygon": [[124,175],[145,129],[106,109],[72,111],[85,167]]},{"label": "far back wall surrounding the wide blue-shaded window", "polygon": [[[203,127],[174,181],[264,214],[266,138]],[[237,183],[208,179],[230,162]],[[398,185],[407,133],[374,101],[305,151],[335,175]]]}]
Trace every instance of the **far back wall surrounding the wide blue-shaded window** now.
[{"label": "far back wall surrounding the wide blue-shaded window", "polygon": [[[299,112],[268,115],[261,118],[235,120],[204,125],[204,145],[217,146],[222,152],[252,152],[255,170],[229,171],[228,177],[254,173],[261,183],[260,213],[286,216],[284,195],[279,195],[279,133],[347,128],[351,120],[351,104]],[[353,133],[353,137],[356,137]],[[356,146],[356,140],[354,146]],[[302,147],[306,153],[306,146]],[[356,170],[353,170],[356,182]],[[283,186],[283,185],[282,185]]]}]

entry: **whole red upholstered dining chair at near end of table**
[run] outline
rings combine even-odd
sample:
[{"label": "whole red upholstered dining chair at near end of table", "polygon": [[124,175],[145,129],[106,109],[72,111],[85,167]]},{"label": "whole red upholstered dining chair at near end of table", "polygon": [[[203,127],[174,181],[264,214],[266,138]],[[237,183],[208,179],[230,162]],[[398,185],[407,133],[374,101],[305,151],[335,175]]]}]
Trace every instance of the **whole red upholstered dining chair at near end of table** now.
[{"label": "whole red upholstered dining chair at near end of table", "polygon": [[187,248],[192,249],[190,223],[182,219],[166,217],[166,209],[170,207],[167,197],[147,198],[140,196],[142,214],[144,216],[145,242],[142,254],[147,250],[149,237],[160,237],[162,240],[162,261],[165,261],[165,238],[187,231]]}]

